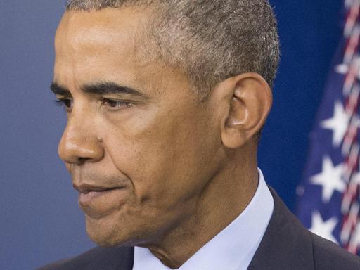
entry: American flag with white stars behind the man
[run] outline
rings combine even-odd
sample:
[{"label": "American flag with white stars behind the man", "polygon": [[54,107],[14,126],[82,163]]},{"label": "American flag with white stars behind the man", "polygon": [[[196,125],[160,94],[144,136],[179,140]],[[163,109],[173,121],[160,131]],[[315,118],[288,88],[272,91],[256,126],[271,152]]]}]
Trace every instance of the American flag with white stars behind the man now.
[{"label": "American flag with white stars behind the man", "polygon": [[360,0],[345,0],[343,38],[310,134],[297,216],[310,231],[360,255]]}]

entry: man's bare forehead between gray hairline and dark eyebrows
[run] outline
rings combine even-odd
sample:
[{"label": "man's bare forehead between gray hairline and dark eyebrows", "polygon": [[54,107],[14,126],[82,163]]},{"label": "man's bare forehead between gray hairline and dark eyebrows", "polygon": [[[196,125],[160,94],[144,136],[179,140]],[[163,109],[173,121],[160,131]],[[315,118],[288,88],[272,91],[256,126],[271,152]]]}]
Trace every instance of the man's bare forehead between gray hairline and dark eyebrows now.
[{"label": "man's bare forehead between gray hairline and dark eyebrows", "polygon": [[144,56],[143,27],[150,11],[144,8],[107,8],[65,13],[56,32],[54,80],[86,84],[89,80],[137,81],[136,74],[157,65]]}]

